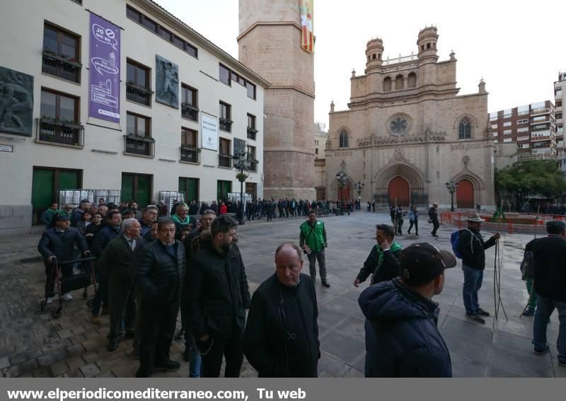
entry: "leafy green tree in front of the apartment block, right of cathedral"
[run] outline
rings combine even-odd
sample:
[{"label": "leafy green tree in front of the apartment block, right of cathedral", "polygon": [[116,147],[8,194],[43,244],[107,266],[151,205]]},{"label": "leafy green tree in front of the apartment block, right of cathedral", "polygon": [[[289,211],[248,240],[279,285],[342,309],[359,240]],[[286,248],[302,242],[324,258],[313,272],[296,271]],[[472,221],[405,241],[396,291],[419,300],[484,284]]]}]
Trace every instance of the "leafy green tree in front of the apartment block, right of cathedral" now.
[{"label": "leafy green tree in front of the apartment block, right of cathedral", "polygon": [[495,189],[521,197],[543,194],[558,197],[566,192],[565,173],[551,160],[523,161],[495,170]]}]

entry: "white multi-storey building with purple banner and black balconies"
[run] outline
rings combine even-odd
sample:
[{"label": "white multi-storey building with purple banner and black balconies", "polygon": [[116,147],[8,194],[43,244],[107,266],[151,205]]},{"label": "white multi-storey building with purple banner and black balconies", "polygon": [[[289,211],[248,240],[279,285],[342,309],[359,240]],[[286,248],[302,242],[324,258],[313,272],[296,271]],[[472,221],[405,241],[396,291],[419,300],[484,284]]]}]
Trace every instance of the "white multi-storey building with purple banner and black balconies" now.
[{"label": "white multi-storey building with purple banner and black balconies", "polygon": [[59,190],[225,200],[241,153],[262,197],[270,83],[154,1],[9,1],[0,26],[0,235]]}]

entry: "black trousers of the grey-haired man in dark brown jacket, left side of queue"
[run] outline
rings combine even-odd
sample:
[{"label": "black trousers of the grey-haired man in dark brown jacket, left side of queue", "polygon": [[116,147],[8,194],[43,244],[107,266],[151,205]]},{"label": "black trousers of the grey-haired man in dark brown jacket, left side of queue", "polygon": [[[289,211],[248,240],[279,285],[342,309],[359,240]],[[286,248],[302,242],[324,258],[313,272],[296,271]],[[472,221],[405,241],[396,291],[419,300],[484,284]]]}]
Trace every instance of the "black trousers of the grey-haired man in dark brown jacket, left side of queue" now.
[{"label": "black trousers of the grey-haired man in dark brown jacket, left side of queue", "polygon": [[124,327],[133,332],[136,328],[136,292],[129,277],[117,272],[110,272],[108,279],[108,307],[110,309],[110,332],[106,336],[110,341],[122,337],[122,316]]}]

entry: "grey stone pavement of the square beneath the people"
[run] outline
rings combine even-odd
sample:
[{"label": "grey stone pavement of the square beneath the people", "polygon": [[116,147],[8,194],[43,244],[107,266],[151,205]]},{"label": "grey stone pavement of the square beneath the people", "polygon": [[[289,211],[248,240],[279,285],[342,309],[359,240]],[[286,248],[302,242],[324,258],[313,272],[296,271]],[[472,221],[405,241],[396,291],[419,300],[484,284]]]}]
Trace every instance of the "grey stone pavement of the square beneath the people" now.
[{"label": "grey stone pavement of the square beneath the people", "polygon": [[[298,241],[303,217],[246,223],[238,228],[240,245],[250,290],[274,272],[274,252],[279,243]],[[374,245],[376,223],[387,223],[384,213],[357,211],[352,216],[324,218],[329,246],[326,262],[332,286],[325,289],[317,281],[322,356],[318,364],[321,377],[360,377],[364,371],[364,318],[357,305],[360,288],[352,286],[359,268]],[[401,245],[429,240],[439,248],[450,249],[454,228],[441,226],[440,238],[429,235],[430,225],[420,221],[420,237],[403,235]],[[405,222],[404,230],[408,228]],[[486,233],[487,234],[487,233]],[[454,376],[466,377],[554,377],[566,376],[566,368],[556,361],[558,316],[548,327],[550,353],[533,354],[533,318],[519,318],[528,295],[521,281],[519,262],[522,249],[531,239],[527,235],[504,235],[501,297],[509,320],[502,310],[499,318],[487,318],[486,325],[466,321],[461,286],[463,273],[458,267],[446,272],[444,291],[434,298],[440,303],[439,326],[449,347]],[[108,316],[100,326],[91,325],[90,310],[74,291],[74,299],[64,302],[62,316],[52,318],[50,308],[40,312],[44,270],[37,260],[39,235],[0,238],[0,370],[3,377],[132,377],[138,362],[132,358],[132,340],[120,342],[113,352],[106,350]],[[494,311],[494,253],[487,252],[487,269],[480,302]],[[35,258],[35,260],[33,259]],[[304,272],[308,273],[308,262]],[[89,297],[93,296],[90,288]],[[180,323],[178,323],[180,325]],[[182,341],[182,340],[181,340]],[[173,342],[171,358],[181,362],[175,373],[156,373],[160,377],[187,377],[182,357],[183,343]],[[244,362],[242,376],[255,376]]]}]

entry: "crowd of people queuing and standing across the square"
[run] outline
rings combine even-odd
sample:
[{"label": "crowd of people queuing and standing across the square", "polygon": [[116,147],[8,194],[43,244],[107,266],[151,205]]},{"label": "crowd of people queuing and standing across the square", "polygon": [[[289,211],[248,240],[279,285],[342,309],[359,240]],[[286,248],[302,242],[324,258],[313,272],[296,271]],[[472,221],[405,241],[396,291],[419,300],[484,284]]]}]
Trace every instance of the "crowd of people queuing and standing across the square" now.
[{"label": "crowd of people queuing and standing across the square", "polygon": [[[169,356],[175,337],[185,339],[183,356],[193,378],[219,377],[223,360],[225,376],[238,377],[244,355],[260,377],[316,377],[317,262],[321,283],[330,286],[325,262],[328,238],[318,209],[330,211],[333,202],[287,201],[258,201],[261,211],[248,207],[252,216],[261,217],[266,204],[275,204],[283,217],[289,204],[290,216],[306,217],[297,229],[299,245],[279,245],[274,274],[253,296],[237,245],[237,222],[226,215],[227,205],[177,203],[170,216],[162,216],[162,205],[139,210],[135,201],[117,206],[99,199],[93,208],[83,200],[76,209],[64,205],[60,211],[53,204],[44,215],[49,227],[38,245],[45,259],[47,303],[54,297],[53,266],[79,257],[77,252],[92,255],[97,258],[98,288],[91,322],[100,325],[100,314],[108,312],[109,352],[133,339],[132,355],[139,359],[137,377],[180,368]],[[432,236],[437,236],[439,225],[437,207],[433,204],[429,209]],[[273,207],[267,209],[272,215]],[[456,266],[456,255],[464,272],[466,318],[484,324],[490,313],[480,307],[478,293],[485,250],[495,245],[499,234],[484,240],[483,220],[470,214],[468,227],[453,243],[454,255],[424,242],[403,249],[395,236],[401,232],[398,221],[406,214],[401,207],[391,213],[392,225],[376,226],[376,245],[353,282],[359,286],[369,279],[370,284],[359,296],[366,317],[366,377],[450,377],[449,349],[438,330],[439,306],[432,298],[441,293],[444,270]],[[414,226],[418,233],[417,209],[408,215],[409,231]],[[537,354],[548,352],[546,324],[557,308],[558,362],[566,366],[566,273],[560,266],[566,257],[566,223],[552,221],[547,229],[548,238],[533,240],[526,248],[535,272],[529,287],[536,294],[533,347]],[[303,255],[309,274],[301,272]],[[61,274],[64,284],[73,271],[62,268]],[[64,285],[61,292],[64,300],[72,299]],[[175,335],[178,313],[182,327]]]}]

